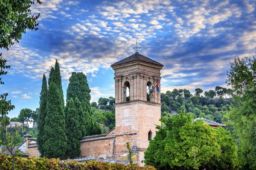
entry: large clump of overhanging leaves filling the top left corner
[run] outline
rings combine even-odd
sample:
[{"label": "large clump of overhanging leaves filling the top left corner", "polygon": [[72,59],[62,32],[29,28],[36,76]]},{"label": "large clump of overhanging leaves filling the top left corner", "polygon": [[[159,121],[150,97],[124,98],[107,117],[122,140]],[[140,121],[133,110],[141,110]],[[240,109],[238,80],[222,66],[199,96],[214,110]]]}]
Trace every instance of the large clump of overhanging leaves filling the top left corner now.
[{"label": "large clump of overhanging leaves filling the top left corner", "polygon": [[[0,48],[9,50],[14,42],[19,42],[26,30],[38,30],[36,21],[40,14],[33,15],[30,7],[35,0],[2,0],[0,6]],[[37,3],[41,4],[40,0]],[[13,42],[14,41],[14,42]]]}]

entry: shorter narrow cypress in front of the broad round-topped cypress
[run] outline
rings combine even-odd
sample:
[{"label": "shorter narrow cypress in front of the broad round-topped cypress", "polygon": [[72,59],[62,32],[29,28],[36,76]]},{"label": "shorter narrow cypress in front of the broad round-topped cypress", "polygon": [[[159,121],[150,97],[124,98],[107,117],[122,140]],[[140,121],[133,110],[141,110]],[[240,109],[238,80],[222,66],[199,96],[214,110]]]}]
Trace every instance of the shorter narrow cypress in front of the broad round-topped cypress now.
[{"label": "shorter narrow cypress in front of the broad round-topped cypress", "polygon": [[67,156],[73,159],[80,156],[80,142],[82,137],[80,116],[83,113],[79,99],[71,98],[67,101],[66,114],[66,136],[67,136]]}]

